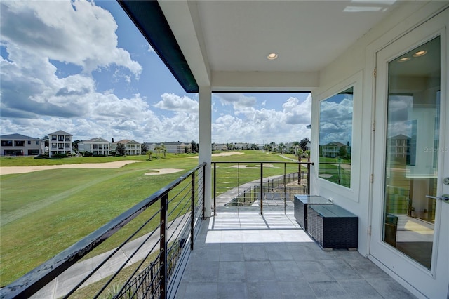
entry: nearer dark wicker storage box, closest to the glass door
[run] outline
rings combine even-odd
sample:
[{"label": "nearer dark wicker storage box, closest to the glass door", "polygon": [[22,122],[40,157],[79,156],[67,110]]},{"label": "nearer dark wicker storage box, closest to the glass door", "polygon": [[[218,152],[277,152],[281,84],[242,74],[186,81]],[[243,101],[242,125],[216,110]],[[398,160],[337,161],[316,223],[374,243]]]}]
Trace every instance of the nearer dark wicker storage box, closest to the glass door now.
[{"label": "nearer dark wicker storage box, closest to the glass door", "polygon": [[307,231],[324,250],[358,246],[358,218],[335,204],[307,206]]}]

